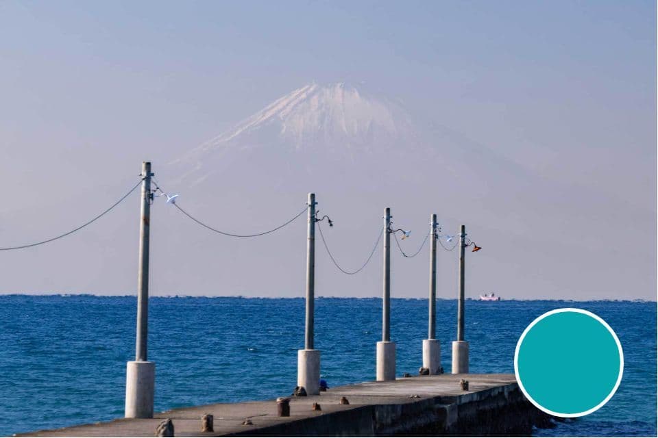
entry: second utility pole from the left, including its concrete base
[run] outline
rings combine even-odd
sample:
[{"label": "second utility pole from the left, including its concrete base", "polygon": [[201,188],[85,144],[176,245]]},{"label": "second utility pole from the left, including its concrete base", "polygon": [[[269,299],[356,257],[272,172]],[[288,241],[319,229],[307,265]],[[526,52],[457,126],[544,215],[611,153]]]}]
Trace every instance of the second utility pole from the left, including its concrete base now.
[{"label": "second utility pole from the left, including its concrete base", "polygon": [[306,394],[320,394],[320,352],[313,349],[315,324],[315,193],[308,194],[308,241],[306,244],[306,330],[304,350],[297,351],[297,386]]}]

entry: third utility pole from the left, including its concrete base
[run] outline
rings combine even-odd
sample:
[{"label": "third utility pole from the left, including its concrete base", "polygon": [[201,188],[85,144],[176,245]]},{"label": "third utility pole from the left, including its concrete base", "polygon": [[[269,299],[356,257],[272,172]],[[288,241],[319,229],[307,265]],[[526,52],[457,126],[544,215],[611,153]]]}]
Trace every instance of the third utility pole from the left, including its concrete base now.
[{"label": "third utility pole from the left, including its concrete base", "polygon": [[377,381],[395,380],[395,342],[391,342],[391,209],[384,209],[384,287],[382,341],[377,343]]}]

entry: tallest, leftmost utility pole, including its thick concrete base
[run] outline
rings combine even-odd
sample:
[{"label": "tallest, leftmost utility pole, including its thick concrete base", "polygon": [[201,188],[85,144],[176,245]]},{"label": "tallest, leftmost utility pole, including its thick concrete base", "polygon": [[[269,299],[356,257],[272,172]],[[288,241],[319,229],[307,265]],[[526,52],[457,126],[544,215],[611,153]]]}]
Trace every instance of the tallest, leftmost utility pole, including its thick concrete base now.
[{"label": "tallest, leftmost utility pole, including its thick concrete base", "polygon": [[147,361],[149,324],[149,230],[151,225],[151,163],[142,163],[139,271],[137,274],[137,339],[135,360],[127,363],[125,417],[152,418],[156,364]]}]

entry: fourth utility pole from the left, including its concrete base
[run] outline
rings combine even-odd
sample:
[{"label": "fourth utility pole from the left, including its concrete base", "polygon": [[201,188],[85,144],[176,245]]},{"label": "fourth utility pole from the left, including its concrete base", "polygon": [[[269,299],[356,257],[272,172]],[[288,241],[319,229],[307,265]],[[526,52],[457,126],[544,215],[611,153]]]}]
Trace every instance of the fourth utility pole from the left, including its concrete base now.
[{"label": "fourth utility pole from the left, including its concrete base", "polygon": [[430,374],[439,374],[441,370],[441,344],[436,339],[436,309],[437,309],[437,240],[439,228],[437,215],[430,216],[430,298],[428,312],[428,335],[423,340],[423,368]]}]

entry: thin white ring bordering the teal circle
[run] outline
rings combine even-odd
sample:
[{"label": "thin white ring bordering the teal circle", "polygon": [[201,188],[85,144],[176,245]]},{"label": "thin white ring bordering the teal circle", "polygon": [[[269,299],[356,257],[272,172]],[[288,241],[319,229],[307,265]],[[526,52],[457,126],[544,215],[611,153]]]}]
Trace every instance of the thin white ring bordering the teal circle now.
[{"label": "thin white ring bordering the teal circle", "polygon": [[[595,320],[597,320],[598,322],[603,324],[603,326],[606,329],[608,329],[608,331],[612,335],[613,339],[615,339],[615,342],[617,344],[617,348],[619,350],[619,362],[620,362],[620,364],[619,364],[619,376],[617,376],[617,383],[615,383],[615,387],[612,389],[612,391],[610,391],[610,394],[608,394],[608,396],[605,399],[603,399],[602,402],[597,404],[595,407],[593,407],[592,409],[587,409],[587,411],[578,412],[578,413],[561,413],[561,412],[551,411],[550,409],[546,409],[545,407],[541,406],[541,404],[537,403],[535,401],[535,399],[531,397],[530,394],[528,394],[528,391],[526,391],[526,388],[523,386],[523,383],[522,383],[521,379],[519,378],[519,349],[521,347],[521,343],[523,342],[523,339],[526,337],[526,334],[528,333],[528,331],[530,331],[530,329],[533,328],[533,326],[535,326],[535,324],[537,324],[537,322],[543,320],[544,318],[546,318],[550,315],[555,315],[555,313],[563,313],[563,312],[583,313],[585,315],[591,316],[592,318],[594,318]],[[523,331],[523,333],[521,334],[521,337],[519,338],[518,342],[516,343],[516,350],[514,351],[514,374],[516,376],[516,381],[517,381],[519,387],[521,388],[521,391],[523,392],[524,396],[526,396],[526,398],[528,400],[530,400],[530,402],[532,404],[534,404],[535,407],[537,407],[538,409],[541,409],[541,411],[544,411],[544,412],[546,412],[550,415],[555,415],[556,417],[565,417],[565,418],[583,417],[583,415],[589,415],[590,413],[592,413],[594,411],[598,411],[598,409],[600,409],[604,404],[606,404],[612,398],[612,396],[614,396],[615,393],[617,392],[617,389],[618,389],[620,383],[622,383],[622,375],[624,374],[624,351],[622,350],[622,344],[621,344],[621,342],[619,342],[619,338],[617,337],[617,333],[615,333],[615,331],[612,329],[612,327],[609,326],[608,323],[605,322],[602,318],[600,318],[600,316],[598,316],[598,315],[596,315],[596,314],[594,314],[590,311],[587,311],[587,310],[576,309],[575,307],[564,307],[563,309],[551,310],[551,311],[548,311],[548,312],[544,313],[543,315],[540,315],[539,317],[535,318],[535,320],[533,322],[531,322],[526,327],[526,329]]]}]

